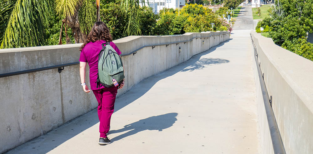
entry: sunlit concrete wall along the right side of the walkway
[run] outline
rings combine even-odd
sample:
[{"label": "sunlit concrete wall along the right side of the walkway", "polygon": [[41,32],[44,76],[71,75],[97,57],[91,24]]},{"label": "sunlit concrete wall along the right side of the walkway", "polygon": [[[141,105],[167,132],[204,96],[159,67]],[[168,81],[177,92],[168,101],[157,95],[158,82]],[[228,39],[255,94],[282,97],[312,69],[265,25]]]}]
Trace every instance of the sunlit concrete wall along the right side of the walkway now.
[{"label": "sunlit concrete wall along the right side of the walkway", "polygon": [[[251,32],[257,60],[286,153],[313,152],[313,62],[275,45],[271,38]],[[254,59],[254,58],[253,58]],[[254,59],[255,60],[255,59]],[[256,75],[261,146],[274,153],[262,91]],[[262,77],[262,76],[261,76]]]}]

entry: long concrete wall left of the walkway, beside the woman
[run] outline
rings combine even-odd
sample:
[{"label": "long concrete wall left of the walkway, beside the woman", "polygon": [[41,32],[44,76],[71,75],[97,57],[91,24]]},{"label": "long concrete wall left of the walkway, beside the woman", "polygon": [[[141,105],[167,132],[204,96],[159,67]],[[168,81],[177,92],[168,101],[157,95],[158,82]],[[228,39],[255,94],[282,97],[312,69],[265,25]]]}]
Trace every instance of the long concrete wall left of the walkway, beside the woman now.
[{"label": "long concrete wall left of the walkway, beside the woman", "polygon": [[[172,36],[130,36],[115,40],[122,51],[126,86],[185,62],[229,39],[229,32]],[[79,66],[1,77],[4,73],[78,62],[81,44],[0,50],[0,153],[43,135],[97,107],[82,91]],[[89,81],[89,70],[86,71]],[[89,83],[87,83],[89,85]]]}]

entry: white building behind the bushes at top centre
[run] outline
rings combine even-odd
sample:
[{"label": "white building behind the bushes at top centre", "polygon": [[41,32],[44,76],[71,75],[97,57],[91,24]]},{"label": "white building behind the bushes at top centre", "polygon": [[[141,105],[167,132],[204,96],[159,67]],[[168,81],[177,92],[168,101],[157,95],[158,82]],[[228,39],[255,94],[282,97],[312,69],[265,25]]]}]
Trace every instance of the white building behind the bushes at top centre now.
[{"label": "white building behind the bushes at top centre", "polygon": [[[142,4],[140,5],[142,6]],[[185,0],[147,0],[146,6],[152,7],[155,13],[159,13],[164,7],[173,9],[183,7],[185,6]]]}]

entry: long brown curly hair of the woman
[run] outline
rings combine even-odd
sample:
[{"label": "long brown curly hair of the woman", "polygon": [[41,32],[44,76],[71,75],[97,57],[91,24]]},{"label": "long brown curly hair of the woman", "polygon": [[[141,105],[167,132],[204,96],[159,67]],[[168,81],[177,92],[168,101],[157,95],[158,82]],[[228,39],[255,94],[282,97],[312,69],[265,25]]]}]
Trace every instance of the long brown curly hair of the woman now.
[{"label": "long brown curly hair of the woman", "polygon": [[112,36],[110,34],[110,29],[105,23],[98,21],[91,28],[90,33],[87,36],[86,41],[80,46],[80,51],[83,50],[85,45],[89,42],[96,42],[97,40],[105,40],[105,42],[111,42]]}]

